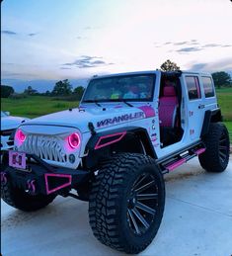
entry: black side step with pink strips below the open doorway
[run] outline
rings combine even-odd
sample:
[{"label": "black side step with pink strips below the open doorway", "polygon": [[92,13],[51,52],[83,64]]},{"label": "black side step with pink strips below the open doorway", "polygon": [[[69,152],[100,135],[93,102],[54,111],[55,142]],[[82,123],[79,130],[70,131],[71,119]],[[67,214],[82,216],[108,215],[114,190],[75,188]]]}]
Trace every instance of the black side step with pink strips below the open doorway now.
[{"label": "black side step with pink strips below the open doorway", "polygon": [[166,159],[165,161],[159,163],[160,168],[162,170],[163,174],[169,173],[179,166],[181,166],[184,163],[187,163],[189,160],[191,160],[193,157],[203,153],[205,151],[205,146],[201,142],[197,145],[194,145],[190,149],[181,152],[177,155],[172,156],[169,159]]}]

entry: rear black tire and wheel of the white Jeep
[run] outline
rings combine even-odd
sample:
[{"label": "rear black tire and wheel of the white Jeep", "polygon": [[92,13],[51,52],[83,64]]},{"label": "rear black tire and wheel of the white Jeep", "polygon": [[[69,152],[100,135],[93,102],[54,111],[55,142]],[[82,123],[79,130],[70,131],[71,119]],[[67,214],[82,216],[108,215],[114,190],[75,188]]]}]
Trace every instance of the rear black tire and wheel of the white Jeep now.
[{"label": "rear black tire and wheel of the white Jeep", "polygon": [[199,163],[207,172],[223,172],[229,162],[230,140],[227,128],[212,123],[203,138],[206,150],[199,155]]}]

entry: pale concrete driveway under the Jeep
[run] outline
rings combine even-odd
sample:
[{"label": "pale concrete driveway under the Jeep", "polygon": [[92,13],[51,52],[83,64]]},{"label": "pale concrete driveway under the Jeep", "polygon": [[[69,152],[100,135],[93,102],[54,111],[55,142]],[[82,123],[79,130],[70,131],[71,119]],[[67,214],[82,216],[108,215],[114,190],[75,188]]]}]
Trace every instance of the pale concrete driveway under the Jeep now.
[{"label": "pale concrete driveway under the Jeep", "polygon": [[[205,173],[197,159],[166,176],[162,224],[140,255],[230,256],[232,254],[232,159],[224,173]],[[88,204],[58,197],[36,213],[3,201],[2,254],[123,255],[98,242],[88,223]]]}]

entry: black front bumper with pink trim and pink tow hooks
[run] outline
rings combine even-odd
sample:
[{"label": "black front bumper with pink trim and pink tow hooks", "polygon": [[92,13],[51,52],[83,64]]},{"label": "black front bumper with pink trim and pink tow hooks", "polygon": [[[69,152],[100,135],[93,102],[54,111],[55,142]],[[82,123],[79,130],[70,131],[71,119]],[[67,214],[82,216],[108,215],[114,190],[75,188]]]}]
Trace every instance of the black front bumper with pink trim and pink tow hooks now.
[{"label": "black front bumper with pink trim and pink tow hooks", "polygon": [[8,152],[2,158],[1,182],[11,182],[30,194],[62,194],[72,188],[78,188],[92,177],[84,170],[53,167],[34,154],[26,154],[27,169],[21,170],[9,166]]}]

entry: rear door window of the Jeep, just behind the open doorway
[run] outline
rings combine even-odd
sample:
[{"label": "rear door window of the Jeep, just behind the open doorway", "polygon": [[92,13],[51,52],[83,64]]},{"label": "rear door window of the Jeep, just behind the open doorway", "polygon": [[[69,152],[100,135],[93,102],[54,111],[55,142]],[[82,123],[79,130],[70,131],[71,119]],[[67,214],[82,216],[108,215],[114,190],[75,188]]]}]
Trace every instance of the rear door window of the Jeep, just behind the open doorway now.
[{"label": "rear door window of the Jeep, just behind the open doorway", "polygon": [[186,84],[189,93],[189,99],[195,100],[200,99],[200,88],[199,88],[199,80],[197,76],[186,76]]}]

